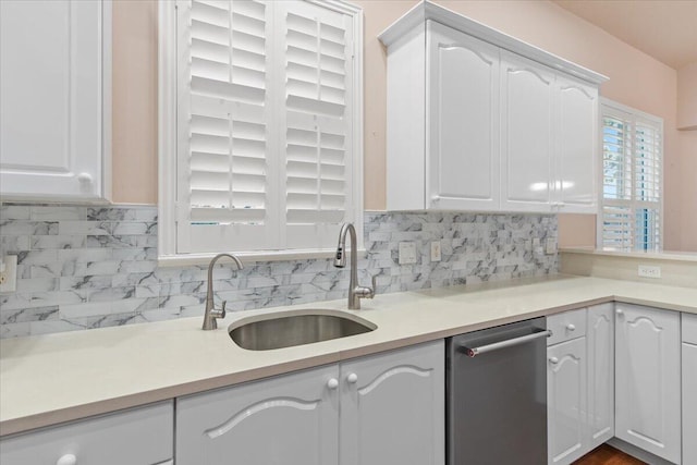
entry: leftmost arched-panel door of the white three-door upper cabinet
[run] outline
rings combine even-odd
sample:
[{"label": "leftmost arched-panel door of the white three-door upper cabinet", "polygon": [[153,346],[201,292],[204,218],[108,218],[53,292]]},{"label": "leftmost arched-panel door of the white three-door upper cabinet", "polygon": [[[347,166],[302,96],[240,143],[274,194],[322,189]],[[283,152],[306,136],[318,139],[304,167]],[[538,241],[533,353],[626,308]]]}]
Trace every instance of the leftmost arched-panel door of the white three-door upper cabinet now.
[{"label": "leftmost arched-panel door of the white three-door upper cabinet", "polygon": [[427,205],[499,208],[499,49],[428,22]]}]

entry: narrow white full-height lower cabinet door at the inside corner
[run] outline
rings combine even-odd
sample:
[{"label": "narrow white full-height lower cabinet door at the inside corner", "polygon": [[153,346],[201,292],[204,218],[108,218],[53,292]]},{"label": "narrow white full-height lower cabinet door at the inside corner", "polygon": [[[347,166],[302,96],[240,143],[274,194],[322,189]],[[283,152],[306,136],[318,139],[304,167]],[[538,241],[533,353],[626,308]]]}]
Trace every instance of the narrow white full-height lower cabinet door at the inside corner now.
[{"label": "narrow white full-height lower cabinet door at the inside corner", "polygon": [[614,436],[614,305],[588,308],[588,449]]}]

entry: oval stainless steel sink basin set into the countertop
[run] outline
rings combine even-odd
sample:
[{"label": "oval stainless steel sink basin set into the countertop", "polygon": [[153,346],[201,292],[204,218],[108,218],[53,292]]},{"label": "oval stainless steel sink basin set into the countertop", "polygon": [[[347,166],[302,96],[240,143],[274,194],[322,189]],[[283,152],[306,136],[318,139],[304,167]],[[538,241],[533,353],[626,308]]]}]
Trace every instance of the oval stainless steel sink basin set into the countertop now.
[{"label": "oval stainless steel sink basin set into the countertop", "polygon": [[243,318],[232,323],[228,332],[242,348],[268,351],[347,338],[376,328],[351,314],[314,308]]}]

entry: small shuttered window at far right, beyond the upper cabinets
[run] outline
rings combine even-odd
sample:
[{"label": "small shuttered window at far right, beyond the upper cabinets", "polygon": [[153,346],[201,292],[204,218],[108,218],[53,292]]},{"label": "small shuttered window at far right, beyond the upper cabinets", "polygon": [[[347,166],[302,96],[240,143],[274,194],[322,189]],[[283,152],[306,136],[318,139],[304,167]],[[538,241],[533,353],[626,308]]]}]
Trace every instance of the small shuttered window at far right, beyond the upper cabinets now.
[{"label": "small shuttered window at far right, beyond the upper cabinets", "polygon": [[607,250],[662,248],[663,120],[603,99],[601,219]]}]

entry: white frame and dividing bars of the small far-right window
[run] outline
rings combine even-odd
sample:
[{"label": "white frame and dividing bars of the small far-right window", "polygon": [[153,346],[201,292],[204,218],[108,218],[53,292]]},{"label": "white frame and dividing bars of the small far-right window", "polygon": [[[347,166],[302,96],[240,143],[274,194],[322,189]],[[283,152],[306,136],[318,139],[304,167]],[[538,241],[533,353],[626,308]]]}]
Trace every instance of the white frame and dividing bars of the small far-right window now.
[{"label": "white frame and dividing bars of the small far-right window", "polygon": [[[631,129],[631,140],[634,144],[635,143],[635,138],[636,138],[636,123],[637,121],[653,125],[656,129],[658,129],[660,131],[660,137],[661,137],[661,142],[660,142],[660,161],[659,161],[659,170],[660,170],[660,185],[659,185],[659,200],[658,203],[653,203],[653,201],[646,201],[646,200],[639,200],[636,198],[636,170],[635,170],[635,151],[634,151],[634,147],[631,151],[631,193],[632,193],[632,197],[628,200],[621,200],[621,199],[606,199],[604,198],[604,119],[607,115],[612,115],[615,118],[622,118],[624,119],[624,121],[628,121],[632,123],[632,129]],[[620,117],[621,115],[621,117]],[[607,252],[617,252],[617,253],[643,253],[643,252],[661,252],[663,249],[663,242],[664,242],[664,228],[663,228],[663,221],[664,221],[664,213],[665,213],[665,209],[664,209],[664,194],[665,194],[665,183],[664,183],[664,160],[665,160],[665,150],[664,150],[664,140],[665,140],[665,134],[664,134],[664,124],[663,124],[663,119],[650,113],[646,113],[644,111],[637,110],[635,108],[628,107],[626,105],[622,105],[620,102],[616,102],[614,100],[611,100],[609,98],[604,98],[601,97],[600,98],[600,106],[599,106],[599,118],[598,118],[598,125],[599,125],[599,135],[600,137],[598,138],[598,144],[599,144],[599,170],[598,170],[598,176],[599,176],[599,183],[598,183],[598,216],[597,216],[597,221],[596,221],[596,248],[599,250],[607,250]],[[610,200],[610,203],[608,203],[608,200]],[[636,232],[636,218],[635,218],[635,212],[637,208],[640,207],[648,207],[651,205],[658,204],[658,213],[659,213],[659,221],[658,221],[658,228],[659,228],[659,244],[657,248],[650,248],[650,249],[641,249],[641,248],[636,248],[637,242],[636,240],[633,241],[632,244],[632,248],[631,249],[617,249],[617,248],[610,248],[610,247],[606,247],[604,246],[604,241],[603,241],[603,223],[604,223],[604,207],[608,205],[613,205],[613,206],[621,206],[624,205],[626,207],[629,207],[632,210],[632,231]]]}]

